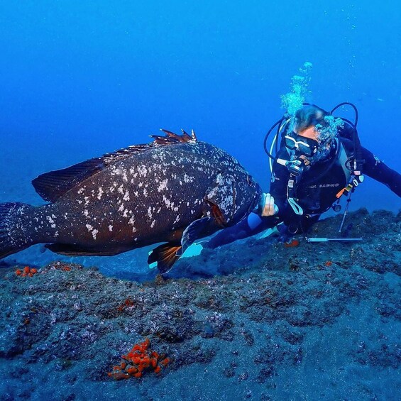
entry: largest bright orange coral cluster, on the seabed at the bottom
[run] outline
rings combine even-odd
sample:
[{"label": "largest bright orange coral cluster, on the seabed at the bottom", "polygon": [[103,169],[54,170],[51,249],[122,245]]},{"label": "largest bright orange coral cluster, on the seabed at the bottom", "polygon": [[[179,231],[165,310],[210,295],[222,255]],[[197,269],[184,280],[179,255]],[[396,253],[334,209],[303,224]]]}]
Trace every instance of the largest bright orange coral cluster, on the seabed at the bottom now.
[{"label": "largest bright orange coral cluster, on the seabed at the bottom", "polygon": [[107,374],[115,380],[123,380],[132,377],[141,378],[148,370],[160,373],[162,368],[170,363],[170,359],[152,351],[149,345],[149,339],[145,339],[141,344],[135,344],[131,351],[121,356],[120,365],[114,366],[113,371]]}]

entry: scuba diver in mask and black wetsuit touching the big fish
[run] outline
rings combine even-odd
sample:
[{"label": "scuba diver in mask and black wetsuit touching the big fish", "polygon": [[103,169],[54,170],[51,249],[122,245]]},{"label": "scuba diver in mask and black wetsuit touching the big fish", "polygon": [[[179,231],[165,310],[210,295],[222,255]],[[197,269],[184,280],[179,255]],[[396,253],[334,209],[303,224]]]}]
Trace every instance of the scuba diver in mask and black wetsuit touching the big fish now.
[{"label": "scuba diver in mask and black wetsuit touching the big fish", "polygon": [[[354,123],[332,115],[344,104],[353,106]],[[330,207],[336,212],[341,209],[341,196],[347,197],[348,209],[351,194],[363,175],[382,182],[401,197],[401,175],[361,146],[357,121],[358,111],[350,103],[339,104],[330,112],[304,104],[295,116],[283,116],[265,138],[265,151],[274,160],[270,164],[270,193],[263,194],[258,209],[247,219],[198,243],[201,249],[193,255],[202,248],[216,248],[274,227],[287,240],[305,233]],[[278,131],[269,153],[266,140],[275,126]],[[275,156],[271,154],[274,144]]]}]

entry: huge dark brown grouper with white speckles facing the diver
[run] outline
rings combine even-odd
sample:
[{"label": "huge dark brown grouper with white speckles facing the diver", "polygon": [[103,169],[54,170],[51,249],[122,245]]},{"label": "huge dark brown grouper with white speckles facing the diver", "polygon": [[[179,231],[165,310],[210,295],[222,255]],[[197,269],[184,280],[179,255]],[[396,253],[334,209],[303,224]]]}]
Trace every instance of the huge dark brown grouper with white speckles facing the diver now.
[{"label": "huge dark brown grouper with white speckles facing the diver", "polygon": [[166,273],[197,238],[244,219],[262,191],[228,153],[182,131],[39,175],[50,202],[0,204],[0,258],[36,243],[67,256],[111,256],[162,243]]}]

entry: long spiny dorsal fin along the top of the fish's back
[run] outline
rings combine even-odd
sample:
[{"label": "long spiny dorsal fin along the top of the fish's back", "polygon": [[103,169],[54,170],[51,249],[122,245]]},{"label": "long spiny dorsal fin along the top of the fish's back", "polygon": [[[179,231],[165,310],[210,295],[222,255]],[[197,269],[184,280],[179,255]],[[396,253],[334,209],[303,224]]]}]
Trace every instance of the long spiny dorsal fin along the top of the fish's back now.
[{"label": "long spiny dorsal fin along the top of the fish's back", "polygon": [[55,170],[45,172],[39,175],[32,181],[35,191],[38,192],[40,197],[45,201],[55,202],[65,192],[69,191],[79,182],[87,180],[92,175],[103,170],[104,168],[112,165],[120,160],[129,158],[135,153],[142,153],[146,150],[155,148],[158,145],[172,145],[174,143],[197,143],[197,137],[192,130],[191,135],[182,130],[182,135],[177,135],[167,130],[162,130],[166,136],[151,136],[154,138],[152,143],[145,143],[141,145],[131,145],[128,148],[116,150],[113,153],[106,153],[100,158],[93,158],[86,160],[76,165],[72,165],[62,170]]}]

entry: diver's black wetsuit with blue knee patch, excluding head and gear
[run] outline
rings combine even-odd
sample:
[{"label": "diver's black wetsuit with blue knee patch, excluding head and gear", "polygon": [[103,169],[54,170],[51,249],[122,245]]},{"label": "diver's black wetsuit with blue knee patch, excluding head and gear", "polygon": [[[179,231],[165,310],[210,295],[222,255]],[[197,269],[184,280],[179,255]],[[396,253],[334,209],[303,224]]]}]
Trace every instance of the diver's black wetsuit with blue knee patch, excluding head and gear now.
[{"label": "diver's black wetsuit with blue knee patch, excluding head and gear", "polygon": [[[344,149],[341,150],[341,147]],[[279,159],[288,160],[287,148],[280,148],[273,163],[273,172],[270,182],[270,194],[275,199],[279,212],[275,216],[261,217],[251,213],[236,226],[220,231],[208,241],[207,248],[231,243],[237,239],[253,236],[266,229],[277,226],[281,222],[283,234],[292,235],[307,231],[320,215],[336,202],[336,194],[344,189],[349,181],[348,169],[344,166],[344,156],[353,153],[352,141],[341,138],[341,151],[333,149],[330,157],[322,162],[311,165],[304,171],[296,187],[297,203],[302,207],[302,216],[296,214],[287,199],[287,185],[290,172],[285,165],[278,163]],[[401,197],[401,175],[385,165],[366,148],[361,148],[361,158],[364,160],[363,174],[372,177],[378,182],[387,185],[392,192]]]}]

